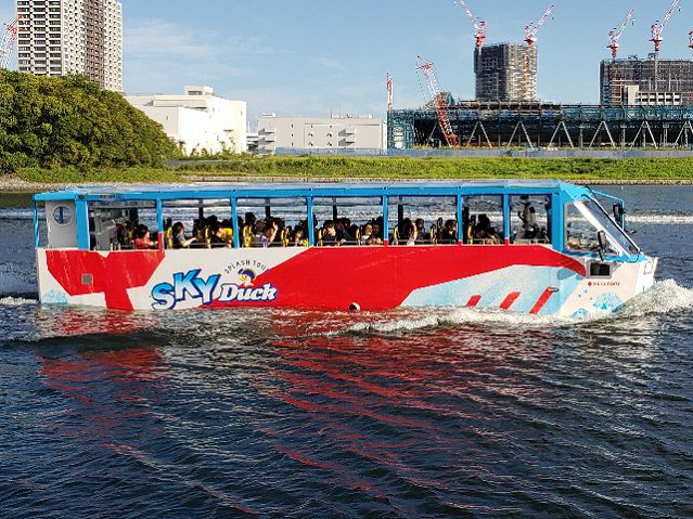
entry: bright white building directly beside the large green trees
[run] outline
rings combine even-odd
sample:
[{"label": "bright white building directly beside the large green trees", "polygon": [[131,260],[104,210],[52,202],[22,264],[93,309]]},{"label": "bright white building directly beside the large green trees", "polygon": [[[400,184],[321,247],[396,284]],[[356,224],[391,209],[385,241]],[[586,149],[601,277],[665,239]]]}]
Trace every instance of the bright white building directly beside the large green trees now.
[{"label": "bright white building directly beside the large green trees", "polygon": [[210,87],[185,87],[180,95],[127,95],[132,106],[164,127],[185,155],[247,152],[247,105],[214,94]]}]

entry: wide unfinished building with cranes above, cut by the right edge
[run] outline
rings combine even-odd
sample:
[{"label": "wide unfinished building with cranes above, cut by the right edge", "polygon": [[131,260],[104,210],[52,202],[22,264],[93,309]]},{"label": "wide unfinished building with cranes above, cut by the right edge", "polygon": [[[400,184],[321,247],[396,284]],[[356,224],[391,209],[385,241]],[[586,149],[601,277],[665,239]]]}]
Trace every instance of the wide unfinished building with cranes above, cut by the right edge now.
[{"label": "wide unfinished building with cranes above, cut by the right edge", "polygon": [[620,105],[693,105],[693,61],[604,60],[600,67],[601,103]]}]

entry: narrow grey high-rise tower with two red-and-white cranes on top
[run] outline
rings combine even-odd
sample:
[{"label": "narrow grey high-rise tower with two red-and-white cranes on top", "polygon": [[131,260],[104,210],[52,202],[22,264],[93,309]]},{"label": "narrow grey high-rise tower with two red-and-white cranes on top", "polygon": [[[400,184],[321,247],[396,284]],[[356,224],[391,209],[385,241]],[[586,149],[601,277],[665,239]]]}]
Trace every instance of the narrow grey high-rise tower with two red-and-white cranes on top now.
[{"label": "narrow grey high-rise tower with two red-and-white cranes on top", "polygon": [[500,43],[475,49],[476,99],[536,101],[537,48]]}]

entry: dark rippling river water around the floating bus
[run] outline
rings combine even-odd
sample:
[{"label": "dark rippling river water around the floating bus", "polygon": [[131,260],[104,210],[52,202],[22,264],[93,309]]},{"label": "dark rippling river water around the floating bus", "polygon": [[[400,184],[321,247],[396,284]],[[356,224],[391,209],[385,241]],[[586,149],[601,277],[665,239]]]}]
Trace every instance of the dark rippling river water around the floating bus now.
[{"label": "dark rippling river water around the floating bus", "polygon": [[660,270],[587,322],[41,308],[0,197],[0,517],[692,517],[693,187],[603,191]]}]

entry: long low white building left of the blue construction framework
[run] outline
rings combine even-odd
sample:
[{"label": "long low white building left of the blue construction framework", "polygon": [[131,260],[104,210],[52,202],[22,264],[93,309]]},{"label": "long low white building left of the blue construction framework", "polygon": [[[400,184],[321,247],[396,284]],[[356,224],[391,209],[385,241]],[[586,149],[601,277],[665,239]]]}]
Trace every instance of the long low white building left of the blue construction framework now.
[{"label": "long low white building left of the blue construction framework", "polygon": [[258,152],[261,154],[283,150],[378,153],[387,148],[387,124],[370,115],[277,117],[264,114],[258,118],[257,133]]}]

